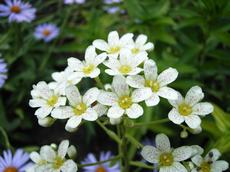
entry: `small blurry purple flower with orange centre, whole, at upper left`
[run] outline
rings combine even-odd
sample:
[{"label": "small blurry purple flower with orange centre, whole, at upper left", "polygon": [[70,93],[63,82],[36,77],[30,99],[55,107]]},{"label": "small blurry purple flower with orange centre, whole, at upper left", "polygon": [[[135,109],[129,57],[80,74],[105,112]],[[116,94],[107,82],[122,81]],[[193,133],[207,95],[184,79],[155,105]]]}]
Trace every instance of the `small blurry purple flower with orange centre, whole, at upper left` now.
[{"label": "small blurry purple flower with orange centre, whole, at upper left", "polygon": [[49,42],[59,35],[59,28],[55,24],[45,23],[36,27],[34,36],[38,40]]}]

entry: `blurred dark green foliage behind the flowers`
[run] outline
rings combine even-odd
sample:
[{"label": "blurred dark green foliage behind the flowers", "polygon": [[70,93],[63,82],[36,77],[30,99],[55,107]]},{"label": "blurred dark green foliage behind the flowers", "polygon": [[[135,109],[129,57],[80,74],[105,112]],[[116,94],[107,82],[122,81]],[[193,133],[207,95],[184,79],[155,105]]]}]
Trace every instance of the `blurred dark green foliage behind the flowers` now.
[{"label": "blurred dark green foliage behind the flowers", "polygon": [[[229,0],[86,0],[66,4],[63,0],[30,0],[37,9],[32,22],[8,22],[0,18],[0,53],[7,63],[7,80],[0,89],[0,150],[9,146],[36,150],[38,146],[70,139],[82,160],[88,152],[111,150],[116,145],[95,123],[86,123],[75,133],[64,130],[65,123],[49,128],[38,125],[34,109],[28,105],[32,85],[50,82],[51,73],[62,71],[68,57],[82,59],[85,49],[95,39],[107,39],[110,31],[146,34],[155,48],[149,57],[159,71],[174,67],[178,79],[171,86],[183,94],[199,85],[205,101],[213,103],[212,115],[202,120],[203,132],[180,138],[182,128],[172,122],[132,129],[140,141],[154,140],[156,133],[170,136],[173,145],[198,144],[206,152],[216,147],[230,159],[230,1]],[[0,1],[4,4],[4,1]],[[50,41],[37,40],[35,28],[52,23],[59,33]],[[102,82],[110,82],[102,74]],[[95,85],[84,79],[83,90]],[[139,122],[166,118],[171,107],[161,99],[160,105],[145,108]],[[1,152],[0,151],[0,152]],[[130,157],[136,148],[130,145]]]}]

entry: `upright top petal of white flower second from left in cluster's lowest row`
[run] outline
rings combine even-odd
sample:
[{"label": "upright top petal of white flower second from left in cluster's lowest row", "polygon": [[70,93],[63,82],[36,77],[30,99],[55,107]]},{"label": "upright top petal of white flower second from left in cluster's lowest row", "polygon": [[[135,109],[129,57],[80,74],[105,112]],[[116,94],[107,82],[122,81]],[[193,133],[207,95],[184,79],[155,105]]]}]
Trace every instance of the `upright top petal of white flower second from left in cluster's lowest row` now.
[{"label": "upright top petal of white flower second from left in cluster's lowest row", "polygon": [[77,104],[81,103],[80,92],[74,85],[70,85],[66,88],[66,97],[71,106],[76,106]]}]

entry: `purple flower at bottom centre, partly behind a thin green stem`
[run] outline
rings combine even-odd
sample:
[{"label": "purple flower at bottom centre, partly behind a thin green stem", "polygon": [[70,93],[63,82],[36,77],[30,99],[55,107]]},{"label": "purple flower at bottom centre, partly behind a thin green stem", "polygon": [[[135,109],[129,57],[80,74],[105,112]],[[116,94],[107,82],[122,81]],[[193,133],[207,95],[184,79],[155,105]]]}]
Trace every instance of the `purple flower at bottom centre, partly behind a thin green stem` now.
[{"label": "purple flower at bottom centre, partly behind a thin green stem", "polygon": [[[99,161],[106,161],[112,158],[111,152],[101,152]],[[89,153],[82,164],[90,164],[98,162],[94,154]],[[116,163],[112,167],[110,162],[106,162],[100,165],[84,167],[84,172],[120,172],[119,164]]]}]

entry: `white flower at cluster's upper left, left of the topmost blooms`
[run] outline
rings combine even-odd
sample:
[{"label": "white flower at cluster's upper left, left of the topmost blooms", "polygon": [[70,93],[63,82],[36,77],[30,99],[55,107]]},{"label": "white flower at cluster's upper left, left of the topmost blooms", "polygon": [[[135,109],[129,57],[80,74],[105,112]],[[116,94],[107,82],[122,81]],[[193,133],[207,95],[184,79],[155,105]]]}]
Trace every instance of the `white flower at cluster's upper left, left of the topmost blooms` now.
[{"label": "white flower at cluster's upper left, left of the topmost blooms", "polygon": [[68,66],[71,70],[79,73],[80,76],[95,78],[100,74],[100,69],[97,67],[106,59],[106,54],[96,54],[95,47],[89,46],[85,52],[85,60],[82,62],[76,58],[68,59]]}]

